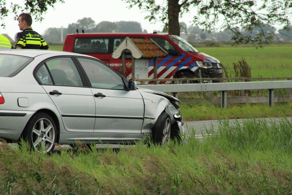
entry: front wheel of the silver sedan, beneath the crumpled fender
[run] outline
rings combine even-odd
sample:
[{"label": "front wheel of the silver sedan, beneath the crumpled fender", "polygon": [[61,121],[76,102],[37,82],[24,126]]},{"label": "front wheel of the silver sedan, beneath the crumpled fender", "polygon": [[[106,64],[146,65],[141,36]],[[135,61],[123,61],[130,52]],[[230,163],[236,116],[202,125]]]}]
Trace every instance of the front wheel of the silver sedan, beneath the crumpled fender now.
[{"label": "front wheel of the silver sedan, beneath the crumpled fender", "polygon": [[154,144],[165,144],[170,140],[171,120],[166,112],[162,112],[152,128],[152,141]]}]

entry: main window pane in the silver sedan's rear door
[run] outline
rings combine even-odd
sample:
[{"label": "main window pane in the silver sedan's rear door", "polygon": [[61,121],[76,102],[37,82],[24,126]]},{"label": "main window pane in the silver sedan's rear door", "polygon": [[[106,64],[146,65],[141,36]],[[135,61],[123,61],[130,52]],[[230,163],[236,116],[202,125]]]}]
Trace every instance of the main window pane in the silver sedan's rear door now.
[{"label": "main window pane in the silver sedan's rear door", "polygon": [[83,86],[81,77],[71,58],[54,58],[45,63],[51,73],[53,84]]}]

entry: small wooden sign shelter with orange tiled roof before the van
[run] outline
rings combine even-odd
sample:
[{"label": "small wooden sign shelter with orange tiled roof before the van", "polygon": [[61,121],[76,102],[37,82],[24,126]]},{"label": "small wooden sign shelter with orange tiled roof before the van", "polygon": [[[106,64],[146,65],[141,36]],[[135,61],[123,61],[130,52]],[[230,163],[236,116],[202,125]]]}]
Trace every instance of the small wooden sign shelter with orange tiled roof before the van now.
[{"label": "small wooden sign shelter with orange tiled roof before the van", "polygon": [[132,60],[132,80],[148,79],[148,61],[154,60],[154,79],[157,79],[157,58],[166,57],[168,53],[151,39],[130,39],[126,37],[112,53],[113,58],[122,59],[122,72],[126,74],[126,59]]}]

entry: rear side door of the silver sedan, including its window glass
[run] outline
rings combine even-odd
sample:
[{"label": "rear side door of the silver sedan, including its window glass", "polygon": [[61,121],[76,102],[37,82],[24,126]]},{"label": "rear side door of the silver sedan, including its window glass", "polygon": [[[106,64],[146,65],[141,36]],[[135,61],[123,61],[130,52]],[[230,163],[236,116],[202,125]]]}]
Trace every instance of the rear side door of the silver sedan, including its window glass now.
[{"label": "rear side door of the silver sedan, including its window glass", "polygon": [[65,129],[93,133],[95,101],[79,72],[72,58],[53,58],[40,65],[36,76],[57,107]]}]

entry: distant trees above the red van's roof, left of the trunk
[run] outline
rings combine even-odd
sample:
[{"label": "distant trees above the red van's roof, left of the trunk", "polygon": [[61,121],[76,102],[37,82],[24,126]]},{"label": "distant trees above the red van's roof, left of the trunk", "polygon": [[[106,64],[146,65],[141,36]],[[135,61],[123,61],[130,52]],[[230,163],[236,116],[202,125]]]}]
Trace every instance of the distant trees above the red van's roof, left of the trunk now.
[{"label": "distant trees above the red van's roof, left of the trunk", "polygon": [[91,18],[83,18],[77,20],[76,23],[69,24],[67,28],[48,28],[43,36],[47,42],[61,42],[61,31],[63,31],[63,40],[65,40],[66,35],[76,33],[76,29],[79,30],[79,33],[81,30],[84,30],[85,33],[147,33],[145,29],[142,29],[141,24],[135,21],[102,21],[96,24]]}]

